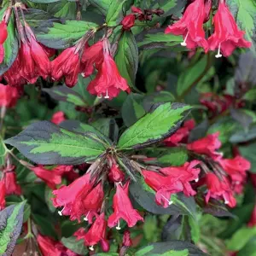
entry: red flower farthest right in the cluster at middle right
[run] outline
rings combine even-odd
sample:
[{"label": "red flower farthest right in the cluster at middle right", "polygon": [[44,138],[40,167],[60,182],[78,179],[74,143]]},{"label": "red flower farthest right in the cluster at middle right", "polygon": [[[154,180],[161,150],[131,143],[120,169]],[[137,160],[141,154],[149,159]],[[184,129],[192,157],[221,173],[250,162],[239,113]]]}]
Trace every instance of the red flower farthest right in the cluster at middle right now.
[{"label": "red flower farthest right in the cluster at middle right", "polygon": [[246,172],[251,168],[251,163],[241,155],[236,155],[233,159],[221,159],[218,162],[224,168],[224,171],[230,175],[235,192],[240,194],[242,184],[246,179]]}]

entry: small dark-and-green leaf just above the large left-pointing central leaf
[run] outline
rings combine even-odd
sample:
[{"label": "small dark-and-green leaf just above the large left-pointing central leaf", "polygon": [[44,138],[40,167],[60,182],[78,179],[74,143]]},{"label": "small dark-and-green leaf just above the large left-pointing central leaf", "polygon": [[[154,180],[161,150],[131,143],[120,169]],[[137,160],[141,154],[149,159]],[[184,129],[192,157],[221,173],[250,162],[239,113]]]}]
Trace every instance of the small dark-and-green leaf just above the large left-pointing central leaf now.
[{"label": "small dark-and-green leaf just above the large left-pointing central leaf", "polygon": [[56,86],[52,88],[44,88],[43,90],[49,93],[49,96],[56,101],[70,102],[75,106],[87,106],[82,96],[67,86]]}]

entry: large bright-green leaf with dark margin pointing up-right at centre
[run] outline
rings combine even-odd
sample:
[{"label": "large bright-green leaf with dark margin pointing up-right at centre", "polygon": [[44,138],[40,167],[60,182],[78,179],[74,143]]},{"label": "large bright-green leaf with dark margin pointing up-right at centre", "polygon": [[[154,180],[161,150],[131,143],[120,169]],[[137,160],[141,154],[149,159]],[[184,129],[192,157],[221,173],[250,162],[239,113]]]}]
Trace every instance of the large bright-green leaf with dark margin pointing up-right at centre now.
[{"label": "large bright-green leaf with dark margin pointing up-right at centre", "polygon": [[189,108],[180,103],[155,104],[149,113],[125,130],[119,138],[119,149],[143,148],[171,136]]}]

